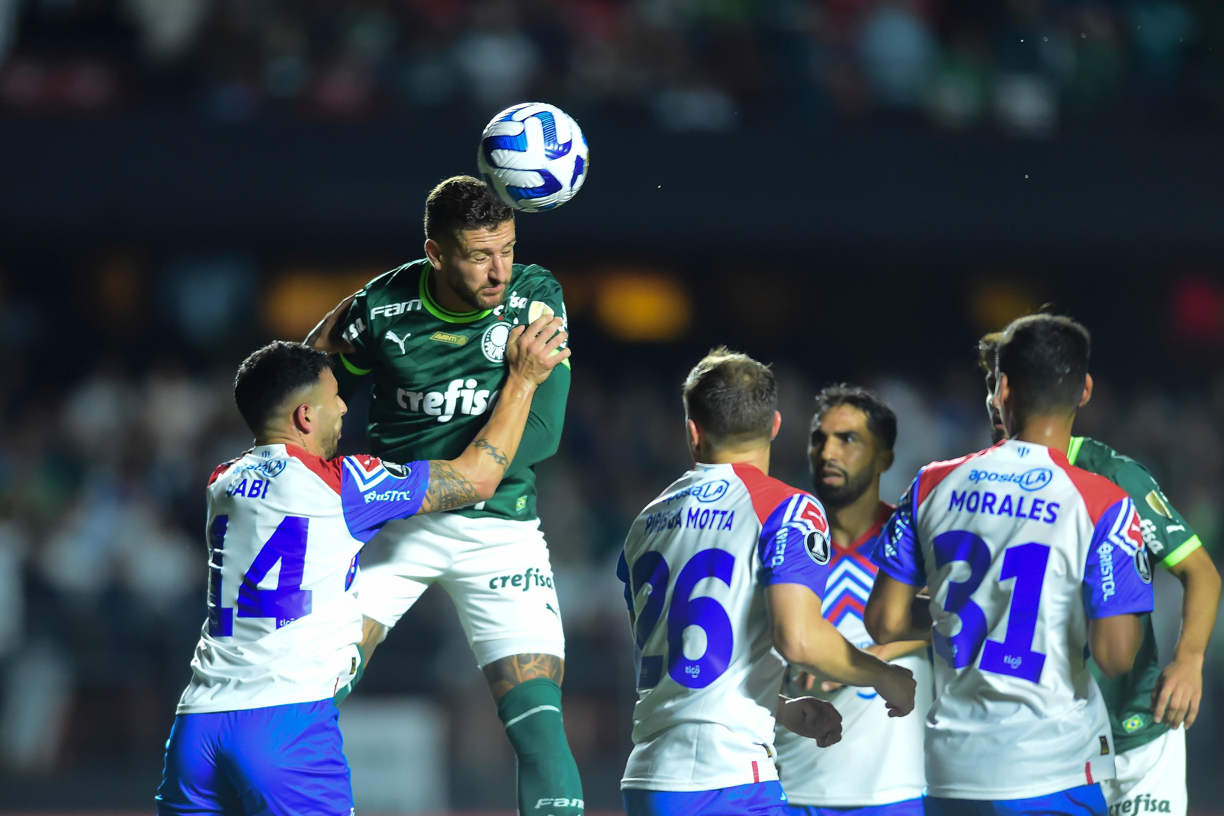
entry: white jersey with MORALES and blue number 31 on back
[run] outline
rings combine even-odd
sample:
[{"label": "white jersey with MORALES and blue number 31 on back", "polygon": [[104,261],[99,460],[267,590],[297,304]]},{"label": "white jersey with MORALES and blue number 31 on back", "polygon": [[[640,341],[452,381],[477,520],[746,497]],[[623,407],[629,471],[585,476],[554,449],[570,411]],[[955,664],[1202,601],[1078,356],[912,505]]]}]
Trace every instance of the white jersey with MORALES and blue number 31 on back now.
[{"label": "white jersey with MORALES and blue number 31 on back", "polygon": [[1088,620],[1152,610],[1121,488],[1060,450],[1005,440],[919,471],[874,558],[930,590],[929,795],[1023,799],[1113,778]]}]

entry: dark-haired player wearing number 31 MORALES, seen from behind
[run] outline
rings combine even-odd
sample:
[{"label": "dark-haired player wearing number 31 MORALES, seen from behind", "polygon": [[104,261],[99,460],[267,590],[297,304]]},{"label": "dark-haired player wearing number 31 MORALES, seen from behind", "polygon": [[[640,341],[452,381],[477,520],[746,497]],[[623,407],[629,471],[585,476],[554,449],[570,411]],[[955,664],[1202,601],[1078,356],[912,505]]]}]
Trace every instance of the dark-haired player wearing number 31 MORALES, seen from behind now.
[{"label": "dark-haired player wearing number 31 MORALES, seen from behind", "polygon": [[1089,346],[1065,317],[1009,325],[995,383],[1009,438],[923,467],[878,538],[867,630],[934,646],[929,816],[1105,816],[1113,735],[1087,655],[1108,677],[1131,669],[1152,575],[1135,503],[1064,453]]}]

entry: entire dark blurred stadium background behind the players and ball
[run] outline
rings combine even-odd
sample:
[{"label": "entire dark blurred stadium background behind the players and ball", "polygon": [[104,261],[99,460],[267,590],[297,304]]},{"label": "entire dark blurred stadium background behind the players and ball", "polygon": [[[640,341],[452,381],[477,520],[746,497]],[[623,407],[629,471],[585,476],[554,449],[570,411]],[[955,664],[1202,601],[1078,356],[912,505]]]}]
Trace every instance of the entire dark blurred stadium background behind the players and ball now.
[{"label": "entire dark blurred stadium background behind the players and ball", "polygon": [[[879,387],[895,495],[984,443],[976,338],[1051,303],[1094,333],[1080,428],[1224,554],[1218,2],[0,0],[0,810],[149,810],[203,614],[202,487],[248,444],[234,366],[419,257],[426,191],[523,99],[591,146],[518,259],[569,308],[540,511],[592,809],[629,747],[616,551],[688,464],[678,383],[712,344],[775,365],[797,484],[815,390]],[[1198,812],[1220,810],[1224,637],[1206,675]],[[449,806],[510,806],[439,592],[354,701],[403,695],[441,716]]]}]

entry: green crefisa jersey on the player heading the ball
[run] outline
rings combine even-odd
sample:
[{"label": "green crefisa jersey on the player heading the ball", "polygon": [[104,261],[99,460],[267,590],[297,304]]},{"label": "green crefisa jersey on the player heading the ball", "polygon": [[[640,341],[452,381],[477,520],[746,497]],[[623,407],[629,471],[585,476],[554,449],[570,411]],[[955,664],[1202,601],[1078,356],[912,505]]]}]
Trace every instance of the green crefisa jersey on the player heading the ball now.
[{"label": "green crefisa jersey on the player heading the ball", "polygon": [[[341,393],[373,378],[370,450],[389,461],[454,459],[485,423],[506,382],[510,329],[541,314],[565,319],[561,284],[547,269],[514,264],[501,306],[457,313],[430,295],[433,267],[414,261],[357,292],[344,322],[356,351],[340,355]],[[557,451],[569,394],[569,361],[536,389],[523,442],[493,498],[466,516],[536,517],[535,464]]]}]

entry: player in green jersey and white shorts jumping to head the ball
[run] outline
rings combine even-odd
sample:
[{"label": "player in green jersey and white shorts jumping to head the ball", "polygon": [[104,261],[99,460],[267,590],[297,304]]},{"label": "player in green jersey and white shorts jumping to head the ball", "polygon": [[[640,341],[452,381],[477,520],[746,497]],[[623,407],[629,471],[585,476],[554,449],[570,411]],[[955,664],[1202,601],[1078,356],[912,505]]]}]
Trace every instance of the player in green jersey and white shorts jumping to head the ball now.
[{"label": "player in green jersey and white shorts jumping to head the ball", "polygon": [[[373,380],[368,443],[395,460],[448,459],[483,425],[506,380],[506,343],[540,316],[564,319],[561,285],[514,263],[514,210],[485,182],[447,179],[425,202],[425,258],[375,278],[310,334],[339,354],[341,393]],[[523,816],[578,816],[581,782],[565,741],[565,641],[536,515],[535,465],[556,453],[569,361],[536,391],[518,454],[487,502],[388,524],[387,563],[365,568],[367,640],[386,636],[431,584],[459,612],[518,756]]]}]

